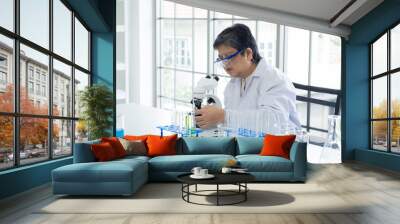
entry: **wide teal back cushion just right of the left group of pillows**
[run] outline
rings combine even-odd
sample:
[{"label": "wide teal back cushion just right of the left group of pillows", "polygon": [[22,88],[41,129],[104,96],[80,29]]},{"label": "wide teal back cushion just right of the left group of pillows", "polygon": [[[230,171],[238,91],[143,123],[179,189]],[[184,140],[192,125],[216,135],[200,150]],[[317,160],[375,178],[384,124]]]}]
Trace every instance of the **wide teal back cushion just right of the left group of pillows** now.
[{"label": "wide teal back cushion just right of the left group of pillows", "polygon": [[185,155],[225,154],[235,155],[235,139],[229,137],[184,137],[182,152]]}]

